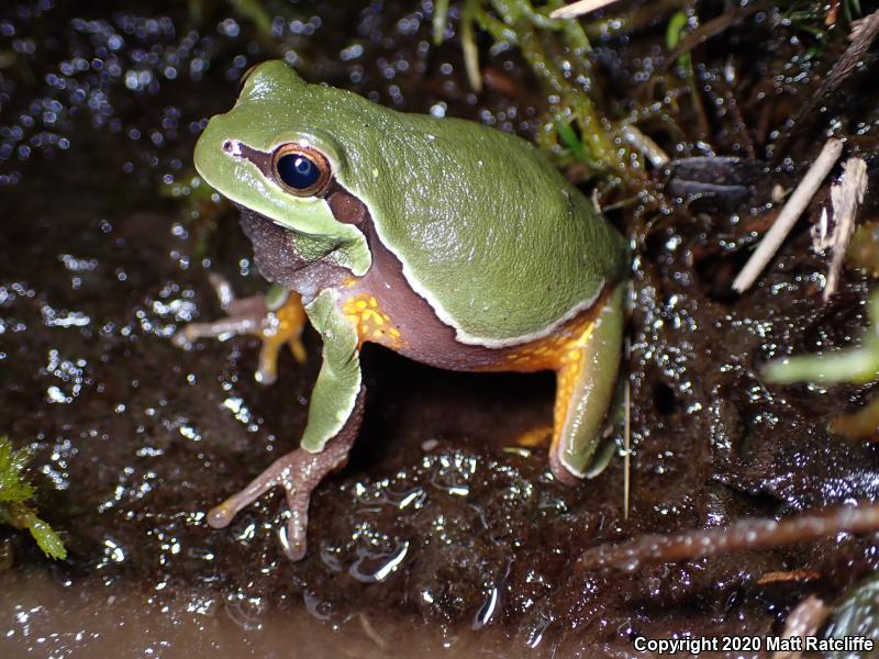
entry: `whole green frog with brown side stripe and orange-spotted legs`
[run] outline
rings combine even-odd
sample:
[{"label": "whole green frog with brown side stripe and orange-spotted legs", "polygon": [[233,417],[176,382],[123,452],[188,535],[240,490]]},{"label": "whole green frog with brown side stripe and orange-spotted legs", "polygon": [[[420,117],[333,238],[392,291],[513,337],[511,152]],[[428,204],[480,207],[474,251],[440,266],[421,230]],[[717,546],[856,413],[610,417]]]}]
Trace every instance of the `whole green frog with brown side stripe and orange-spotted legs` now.
[{"label": "whole green frog with brown side stripe and orange-spotted legs", "polygon": [[211,527],[280,487],[283,551],[305,556],[312,492],[345,467],[360,427],[365,344],[455,371],[555,371],[549,469],[568,485],[591,476],[622,360],[628,246],[548,156],[271,60],[243,76],[193,159],[241,210],[274,293],[238,300],[218,279],[229,316],[190,324],[180,343],[255,334],[270,382],[281,346],[304,359],[305,323],[322,342],[299,447],[212,509]]}]

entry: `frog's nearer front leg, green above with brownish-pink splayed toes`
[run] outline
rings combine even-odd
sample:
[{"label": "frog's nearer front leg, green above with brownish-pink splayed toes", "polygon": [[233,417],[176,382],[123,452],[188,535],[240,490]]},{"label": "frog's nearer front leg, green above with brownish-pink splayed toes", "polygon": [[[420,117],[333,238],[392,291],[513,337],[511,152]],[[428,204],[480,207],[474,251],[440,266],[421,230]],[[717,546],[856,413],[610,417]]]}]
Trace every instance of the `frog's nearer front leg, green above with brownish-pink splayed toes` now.
[{"label": "frog's nearer front leg, green above with brownish-pink splayed toes", "polygon": [[300,448],[277,459],[244,490],[208,514],[208,524],[223,528],[235,514],[275,487],[287,492],[290,518],[285,551],[291,560],[305,555],[311,493],[323,478],[345,466],[360,428],[366,388],[360,375],[356,326],[343,315],[338,294],[323,291],[305,306],[323,339],[323,364],[311,396]]}]

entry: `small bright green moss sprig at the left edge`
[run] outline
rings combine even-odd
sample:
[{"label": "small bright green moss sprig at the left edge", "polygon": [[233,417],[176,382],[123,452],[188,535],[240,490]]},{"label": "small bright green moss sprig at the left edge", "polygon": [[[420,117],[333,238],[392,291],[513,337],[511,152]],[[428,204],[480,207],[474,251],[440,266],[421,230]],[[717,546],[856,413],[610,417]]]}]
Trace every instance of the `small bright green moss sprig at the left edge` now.
[{"label": "small bright green moss sprig at the left edge", "polygon": [[46,556],[65,559],[67,550],[62,539],[27,505],[34,495],[33,485],[24,477],[30,459],[26,450],[13,450],[9,438],[0,437],[0,522],[26,528]]}]

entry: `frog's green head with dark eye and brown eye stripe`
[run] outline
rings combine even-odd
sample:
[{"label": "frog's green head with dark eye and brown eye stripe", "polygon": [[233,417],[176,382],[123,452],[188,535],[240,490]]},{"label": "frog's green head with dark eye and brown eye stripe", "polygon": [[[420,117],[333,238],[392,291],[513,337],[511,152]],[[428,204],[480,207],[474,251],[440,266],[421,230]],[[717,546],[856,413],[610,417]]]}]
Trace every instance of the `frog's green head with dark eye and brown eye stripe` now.
[{"label": "frog's green head with dark eye and brown eye stripe", "polygon": [[286,232],[287,248],[298,257],[363,275],[371,263],[366,238],[327,203],[347,166],[333,131],[335,121],[344,121],[334,118],[334,93],[307,83],[282,62],[258,65],[244,75],[235,107],[208,123],[194,161],[201,177],[252,221],[281,227],[271,232]]}]

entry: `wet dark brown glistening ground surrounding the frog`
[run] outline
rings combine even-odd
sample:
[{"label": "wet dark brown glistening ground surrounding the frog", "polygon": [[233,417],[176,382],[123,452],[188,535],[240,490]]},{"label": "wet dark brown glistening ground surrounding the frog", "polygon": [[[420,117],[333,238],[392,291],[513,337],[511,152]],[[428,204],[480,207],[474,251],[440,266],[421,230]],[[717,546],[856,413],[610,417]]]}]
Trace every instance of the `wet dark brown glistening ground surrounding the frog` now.
[{"label": "wet dark brown glistening ground surrounding the frog", "polygon": [[[209,507],[296,446],[319,367],[313,335],[309,364],[285,355],[271,388],[253,381],[255,340],[169,340],[219,315],[210,270],[240,292],[263,287],[231,211],[160,193],[189,183],[194,139],[241,72],[283,56],[385,104],[523,134],[543,105],[503,49],[486,66],[512,88],[469,92],[457,43],[427,45],[429,3],[285,3],[280,52],[227,5],[192,5],[200,18],[183,3],[0,8],[0,434],[34,450],[40,511],[69,551],[51,563],[0,529],[0,656],[630,656],[636,635],[778,633],[806,594],[833,602],[876,569],[874,539],[844,534],[631,576],[572,568],[602,541],[879,490],[875,447],[825,431],[872,388],[758,375],[778,355],[848,345],[868,278],[848,272],[822,305],[826,264],[802,231],[734,299],[722,282],[747,256],[747,222],[686,209],[650,219],[638,244],[627,520],[622,461],[569,489],[544,449],[515,446],[549,422],[552,378],[441,372],[375,348],[364,432],[313,500],[308,557],[280,551],[278,494],[208,528]],[[790,62],[769,64],[789,72],[769,83],[795,98],[812,65],[779,38]],[[634,74],[655,41],[647,30],[597,51]],[[758,125],[761,107],[745,112]],[[877,119],[836,130],[868,154]],[[797,570],[813,577],[761,582]]]}]

